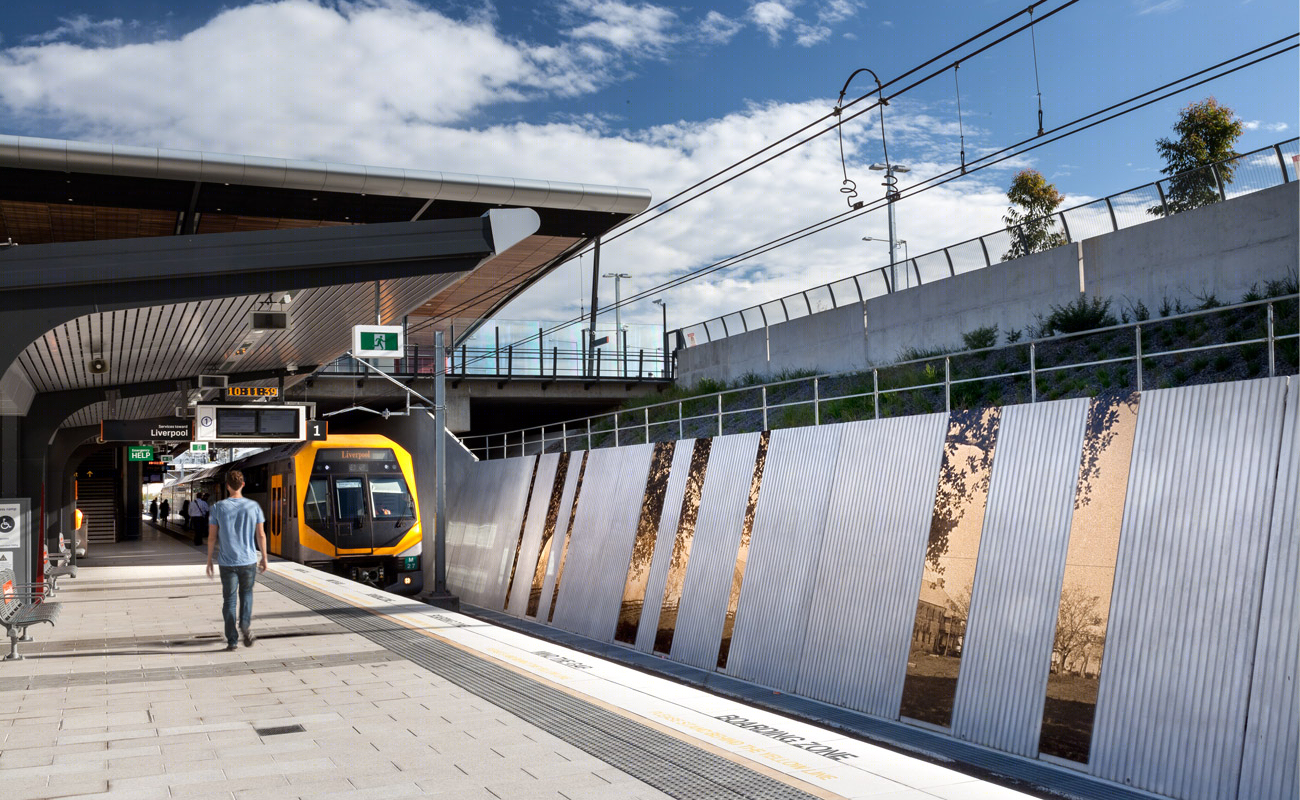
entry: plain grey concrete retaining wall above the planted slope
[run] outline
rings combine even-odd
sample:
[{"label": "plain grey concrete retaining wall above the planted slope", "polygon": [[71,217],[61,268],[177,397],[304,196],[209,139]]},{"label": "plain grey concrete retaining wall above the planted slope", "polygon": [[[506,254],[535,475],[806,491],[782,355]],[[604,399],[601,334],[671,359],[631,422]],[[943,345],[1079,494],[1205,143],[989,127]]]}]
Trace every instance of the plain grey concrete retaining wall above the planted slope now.
[{"label": "plain grey concrete retaining wall above the planted slope", "polygon": [[677,354],[679,382],[731,381],[785,369],[846,372],[900,360],[907,349],[962,347],[962,333],[1035,324],[1080,295],[1112,310],[1214,295],[1239,302],[1252,285],[1295,274],[1300,183],[1284,183],[1167,219],[993,264],[896,294],[751,330]]}]

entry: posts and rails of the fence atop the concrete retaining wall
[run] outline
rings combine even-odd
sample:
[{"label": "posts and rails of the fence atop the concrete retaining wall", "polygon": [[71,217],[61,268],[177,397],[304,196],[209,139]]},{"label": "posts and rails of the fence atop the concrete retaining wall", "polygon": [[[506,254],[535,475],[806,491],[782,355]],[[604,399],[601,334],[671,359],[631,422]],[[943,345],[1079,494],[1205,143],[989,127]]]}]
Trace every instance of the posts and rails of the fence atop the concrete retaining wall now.
[{"label": "posts and rails of the fence atop the concrete retaining wall", "polygon": [[[1132,199],[1136,200],[1138,199],[1136,195],[1139,193],[1145,193],[1145,198],[1143,199],[1141,204],[1145,206],[1147,203],[1152,203],[1152,206],[1148,209],[1145,209],[1147,213],[1149,216],[1152,216],[1152,219],[1158,219],[1158,217],[1162,217],[1162,216],[1173,216],[1175,213],[1180,213],[1180,211],[1176,209],[1176,208],[1175,209],[1170,209],[1170,207],[1169,207],[1169,200],[1166,199],[1166,186],[1170,183],[1170,181],[1186,180],[1187,176],[1190,176],[1190,174],[1195,174],[1196,172],[1201,172],[1201,170],[1209,169],[1212,172],[1212,174],[1214,176],[1216,183],[1221,189],[1221,199],[1226,199],[1227,195],[1225,193],[1222,193],[1222,190],[1223,190],[1225,186],[1230,186],[1230,183],[1226,183],[1219,177],[1219,173],[1218,173],[1217,168],[1219,165],[1222,165],[1222,164],[1228,164],[1228,163],[1240,164],[1240,163],[1245,161],[1247,159],[1268,157],[1269,159],[1269,164],[1270,164],[1269,169],[1271,170],[1271,169],[1277,168],[1279,170],[1279,173],[1280,173],[1282,180],[1280,180],[1280,182],[1269,183],[1268,186],[1256,186],[1256,187],[1248,189],[1247,191],[1243,191],[1240,194],[1249,194],[1252,191],[1260,191],[1262,189],[1271,189],[1273,186],[1280,186],[1282,183],[1288,183],[1288,182],[1291,182],[1294,180],[1292,173],[1296,169],[1296,167],[1295,167],[1295,159],[1300,157],[1300,156],[1297,156],[1297,153],[1292,152],[1292,151],[1296,150],[1295,146],[1297,143],[1300,143],[1300,137],[1291,138],[1291,139],[1287,139],[1284,142],[1278,142],[1277,144],[1270,144],[1268,147],[1261,147],[1258,150],[1252,150],[1251,152],[1245,152],[1245,153],[1242,153],[1242,155],[1239,155],[1236,157],[1226,159],[1225,161],[1218,161],[1216,164],[1209,164],[1208,167],[1199,167],[1196,169],[1191,169],[1191,170],[1187,170],[1187,172],[1183,172],[1183,173],[1179,173],[1179,174],[1175,174],[1175,176],[1170,176],[1167,178],[1161,178],[1160,181],[1154,181],[1152,183],[1144,183],[1141,186],[1135,186],[1134,189],[1130,189],[1130,190],[1126,190],[1126,191],[1121,191],[1121,193],[1117,193],[1117,194],[1113,194],[1113,195],[1108,195],[1108,196],[1104,196],[1104,198],[1100,198],[1100,199],[1096,199],[1096,200],[1091,200],[1088,203],[1082,203],[1079,206],[1074,206],[1074,207],[1066,208],[1063,211],[1057,211],[1057,212],[1053,212],[1052,215],[1049,215],[1049,217],[1046,217],[1046,219],[1050,219],[1053,224],[1060,220],[1061,228],[1062,228],[1062,233],[1065,234],[1065,239],[1069,243],[1069,242],[1076,242],[1076,241],[1080,241],[1080,239],[1084,239],[1084,238],[1089,238],[1089,237],[1097,235],[1097,234],[1093,233],[1093,232],[1088,232],[1088,230],[1080,230],[1080,226],[1078,225],[1078,221],[1076,221],[1076,225],[1074,226],[1074,229],[1071,229],[1071,225],[1067,221],[1066,215],[1080,212],[1082,209],[1091,208],[1093,206],[1097,206],[1098,203],[1106,206],[1105,219],[1109,220],[1109,228],[1110,228],[1110,232],[1108,232],[1108,233],[1113,233],[1113,232],[1121,230],[1123,228],[1132,228],[1134,225],[1138,224],[1138,222],[1132,222],[1132,224],[1122,225],[1121,221],[1115,216],[1114,202],[1115,200],[1122,200],[1123,198],[1126,198],[1128,195],[1135,195]],[[1288,153],[1291,156],[1290,160],[1283,155],[1283,151],[1286,151],[1286,153]],[[1150,190],[1154,190],[1154,195],[1152,195]],[[1160,207],[1160,213],[1154,213],[1157,211],[1156,206]],[[1044,217],[1039,217],[1039,220],[1043,220],[1043,219]],[[1039,220],[1031,220],[1031,221],[1028,221],[1026,224],[1032,224],[1034,221],[1039,221]],[[1148,221],[1148,220],[1143,220],[1143,221]],[[1080,233],[1083,233],[1084,235],[1079,235]],[[864,284],[867,284],[868,286],[871,284],[874,284],[876,286],[876,289],[880,290],[880,291],[876,291],[875,294],[870,294],[870,297],[880,297],[880,295],[884,295],[884,294],[893,294],[898,289],[896,286],[889,285],[889,278],[888,278],[889,271],[893,269],[896,265],[901,267],[901,269],[910,269],[911,271],[911,276],[916,280],[916,285],[919,286],[919,285],[922,285],[924,282],[922,280],[922,276],[920,276],[920,261],[924,260],[924,259],[930,259],[931,256],[942,256],[945,259],[945,265],[946,265],[946,272],[948,273],[946,274],[941,274],[936,280],[942,280],[945,277],[953,277],[956,274],[959,274],[957,272],[957,268],[956,268],[954,261],[953,261],[953,251],[956,251],[958,248],[967,247],[967,246],[974,245],[974,243],[978,243],[979,245],[979,250],[980,250],[980,254],[976,258],[976,261],[983,260],[983,265],[975,265],[971,269],[963,269],[962,272],[963,273],[965,272],[974,272],[976,269],[983,269],[985,267],[992,267],[993,264],[1002,263],[1006,259],[1002,259],[1002,258],[994,259],[994,258],[992,258],[992,255],[989,252],[989,250],[991,250],[989,246],[993,245],[992,250],[994,250],[994,251],[1000,250],[1002,246],[997,245],[994,242],[991,242],[991,239],[993,239],[994,237],[1001,238],[1001,237],[1008,237],[1008,235],[1009,235],[1008,229],[1002,228],[1002,229],[987,233],[984,235],[975,237],[972,239],[966,239],[966,241],[958,242],[956,245],[949,245],[948,247],[941,247],[939,250],[932,250],[930,252],[923,252],[920,255],[911,256],[909,259],[898,261],[897,264],[887,264],[884,267],[876,267],[875,269],[868,269],[866,272],[859,272],[859,273],[852,274],[849,277],[844,277],[844,278],[838,278],[838,280],[835,280],[835,281],[829,281],[827,284],[820,284],[818,286],[812,286],[812,287],[805,289],[802,291],[796,291],[794,294],[789,294],[789,295],[785,295],[783,298],[775,298],[775,299],[771,299],[771,300],[766,300],[763,303],[758,303],[757,306],[749,306],[746,308],[741,308],[740,311],[732,311],[731,313],[724,313],[722,316],[715,316],[715,317],[707,319],[707,320],[701,321],[701,323],[694,323],[692,325],[684,325],[682,328],[679,328],[677,330],[670,332],[670,333],[680,333],[681,337],[682,337],[682,341],[686,341],[688,345],[699,345],[699,343],[705,343],[705,342],[712,342],[712,341],[724,340],[724,338],[736,336],[738,333],[746,333],[749,330],[759,330],[762,328],[768,328],[771,325],[779,325],[781,323],[786,323],[786,321],[790,321],[793,319],[800,319],[800,317],[792,317],[790,316],[790,313],[789,313],[789,304],[785,302],[785,300],[789,300],[789,299],[800,299],[800,300],[802,300],[800,304],[803,306],[803,307],[806,307],[807,311],[809,311],[809,313],[801,315],[801,316],[810,316],[812,313],[820,313],[820,311],[812,311],[812,303],[809,299],[809,293],[823,293],[824,291],[829,297],[829,299],[831,299],[831,308],[828,308],[827,311],[833,310],[833,308],[841,308],[845,304],[850,304],[852,302],[861,303],[861,302],[868,299],[868,294],[863,291],[863,285]],[[942,272],[942,268],[940,271]],[[845,303],[840,303],[836,299],[836,297],[835,297],[835,289],[833,289],[833,286],[837,286],[837,285],[841,285],[841,284],[848,285],[849,282],[853,284],[853,287],[849,290],[850,300],[845,302]],[[933,282],[933,281],[931,281],[931,282]],[[853,297],[855,297],[857,299],[853,300],[852,299]],[[766,308],[768,306],[780,306],[780,313],[784,315],[784,319],[775,319],[775,320],[774,319],[768,319],[768,315],[767,315],[767,311],[766,311]],[[775,311],[775,308],[774,308],[774,311]],[[750,327],[750,323],[746,319],[746,315],[757,315],[759,317],[759,320],[760,320],[760,325]],[[732,317],[740,319],[740,321],[741,321],[740,330],[733,330],[732,328],[734,328],[734,325],[728,325],[727,324],[727,320],[729,320]],[[720,330],[722,336],[714,336],[714,333],[715,333],[714,329],[715,328],[722,328],[722,330]],[[696,341],[696,338],[697,338],[696,334],[698,334],[698,333],[703,334],[703,341]]]}]

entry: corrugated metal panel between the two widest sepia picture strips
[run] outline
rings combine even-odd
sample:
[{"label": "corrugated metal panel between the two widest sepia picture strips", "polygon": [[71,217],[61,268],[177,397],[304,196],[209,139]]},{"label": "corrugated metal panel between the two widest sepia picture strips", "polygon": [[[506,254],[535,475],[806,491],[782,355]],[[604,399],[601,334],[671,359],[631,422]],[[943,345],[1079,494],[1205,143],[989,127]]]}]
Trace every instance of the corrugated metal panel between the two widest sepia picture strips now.
[{"label": "corrugated metal panel between the two widest sepia picture strips", "polygon": [[1002,408],[953,735],[1036,756],[1088,399]]}]

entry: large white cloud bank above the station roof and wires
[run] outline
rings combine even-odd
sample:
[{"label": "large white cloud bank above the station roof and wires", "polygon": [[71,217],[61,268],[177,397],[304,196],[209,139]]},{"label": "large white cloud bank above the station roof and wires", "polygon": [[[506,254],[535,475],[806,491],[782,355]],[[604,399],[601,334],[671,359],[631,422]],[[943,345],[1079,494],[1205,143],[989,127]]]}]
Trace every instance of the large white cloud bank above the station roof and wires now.
[{"label": "large white cloud bank above the station roof and wires", "polygon": [[[595,12],[597,4],[575,8]],[[614,81],[624,49],[641,52],[672,35],[655,22],[662,17],[641,16],[646,8],[599,10],[603,23],[618,27],[621,9],[630,9],[620,29],[627,36],[615,27],[589,29],[569,44],[542,46],[502,35],[489,16],[452,20],[404,0],[263,3],[222,12],[179,38],[3,49],[0,109],[75,139],[641,186],[660,200],[829,109],[828,98],[760,104],[645,130],[616,130],[589,116],[550,124],[488,118],[508,114],[511,101],[580,95]],[[573,22],[573,30],[592,22],[590,16]],[[905,189],[954,167],[957,130],[949,117],[904,100],[889,107],[890,156],[913,168]],[[881,191],[866,169],[880,160],[874,120],[863,116],[845,129],[849,176],[867,202]],[[983,135],[966,130],[972,159]],[[1030,161],[1005,169],[1024,165]],[[647,289],[840,213],[841,181],[836,138],[823,135],[610,242],[602,263],[634,276],[625,290]],[[998,228],[1004,183],[1005,173],[989,170],[900,202],[900,235],[910,254]],[[884,248],[862,243],[863,235],[885,235],[883,211],[667,293],[670,324],[881,265]],[[577,271],[563,267],[506,316],[576,316]],[[644,303],[624,319],[656,323],[658,308]]]}]

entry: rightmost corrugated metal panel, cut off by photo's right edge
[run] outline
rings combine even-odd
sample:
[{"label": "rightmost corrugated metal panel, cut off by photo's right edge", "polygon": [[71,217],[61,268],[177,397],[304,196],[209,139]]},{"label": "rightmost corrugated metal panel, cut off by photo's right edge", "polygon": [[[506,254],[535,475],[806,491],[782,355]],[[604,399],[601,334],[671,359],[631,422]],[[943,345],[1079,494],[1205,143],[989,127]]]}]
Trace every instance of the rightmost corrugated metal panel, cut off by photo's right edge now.
[{"label": "rightmost corrugated metal panel, cut off by photo's right edge", "polygon": [[1254,648],[1254,678],[1245,723],[1245,749],[1238,797],[1295,800],[1300,793],[1296,753],[1300,752],[1300,393],[1297,381],[1287,386],[1286,425],[1282,434],[1278,492],[1273,503],[1268,571],[1260,633]]}]

